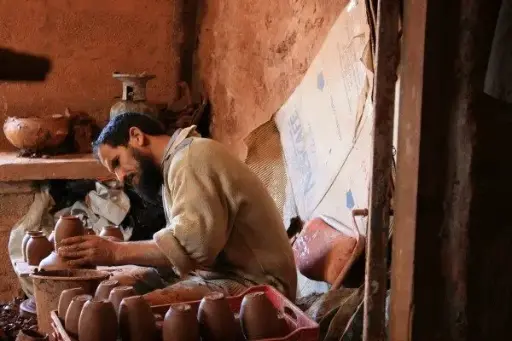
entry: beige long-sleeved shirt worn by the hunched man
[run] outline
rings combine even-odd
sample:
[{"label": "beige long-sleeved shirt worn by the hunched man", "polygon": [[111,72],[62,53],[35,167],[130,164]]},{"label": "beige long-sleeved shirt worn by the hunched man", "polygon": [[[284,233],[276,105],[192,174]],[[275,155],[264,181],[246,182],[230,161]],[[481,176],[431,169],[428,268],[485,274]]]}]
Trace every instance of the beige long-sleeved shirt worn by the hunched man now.
[{"label": "beige long-sleeved shirt worn by the hunched man", "polygon": [[182,276],[270,284],[295,299],[293,252],[274,201],[244,163],[194,129],[175,133],[168,144],[167,226],[154,240]]}]

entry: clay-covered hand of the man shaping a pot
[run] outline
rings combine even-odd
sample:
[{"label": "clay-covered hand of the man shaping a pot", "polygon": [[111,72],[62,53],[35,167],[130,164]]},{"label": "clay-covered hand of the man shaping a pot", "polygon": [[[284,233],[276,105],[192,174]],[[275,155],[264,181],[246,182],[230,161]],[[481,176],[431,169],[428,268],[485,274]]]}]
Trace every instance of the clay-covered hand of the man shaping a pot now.
[{"label": "clay-covered hand of the man shaping a pot", "polygon": [[63,239],[57,250],[70,265],[115,265],[117,242],[100,236]]}]

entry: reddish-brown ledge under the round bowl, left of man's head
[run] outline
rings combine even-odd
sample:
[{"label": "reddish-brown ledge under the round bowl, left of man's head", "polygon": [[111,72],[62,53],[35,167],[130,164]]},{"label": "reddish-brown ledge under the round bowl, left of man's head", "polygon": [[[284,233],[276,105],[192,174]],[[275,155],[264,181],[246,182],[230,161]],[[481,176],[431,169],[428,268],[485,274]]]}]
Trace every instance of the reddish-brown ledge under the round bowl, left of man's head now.
[{"label": "reddish-brown ledge under the round bowl, left of man's head", "polygon": [[18,157],[16,153],[0,152],[0,182],[111,177],[92,154],[27,158]]}]

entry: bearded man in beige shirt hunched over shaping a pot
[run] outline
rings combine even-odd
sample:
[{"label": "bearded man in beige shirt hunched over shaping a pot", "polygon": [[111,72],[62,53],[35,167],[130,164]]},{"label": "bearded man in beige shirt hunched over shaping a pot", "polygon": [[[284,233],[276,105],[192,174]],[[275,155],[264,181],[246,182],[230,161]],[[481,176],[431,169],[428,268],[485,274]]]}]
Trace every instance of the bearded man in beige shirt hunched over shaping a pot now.
[{"label": "bearded man in beige shirt hunched over shaping a pot", "polygon": [[[137,265],[113,277],[151,304],[227,296],[268,284],[296,295],[293,252],[279,211],[259,178],[195,126],[166,135],[150,116],[113,118],[93,144],[95,156],[147,201],[161,196],[167,225],[152,240],[77,236],[58,249],[71,265]],[[158,270],[157,270],[158,269]]]}]

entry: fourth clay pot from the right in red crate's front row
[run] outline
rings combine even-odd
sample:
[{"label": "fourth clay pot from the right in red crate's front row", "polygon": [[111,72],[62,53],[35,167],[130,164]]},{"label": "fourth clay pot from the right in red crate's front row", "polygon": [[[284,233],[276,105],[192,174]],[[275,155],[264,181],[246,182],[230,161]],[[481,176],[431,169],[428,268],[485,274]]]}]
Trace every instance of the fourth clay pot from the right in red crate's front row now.
[{"label": "fourth clay pot from the right in red crate's front row", "polygon": [[121,301],[119,329],[122,340],[152,341],[156,339],[155,317],[142,296],[127,297]]}]

